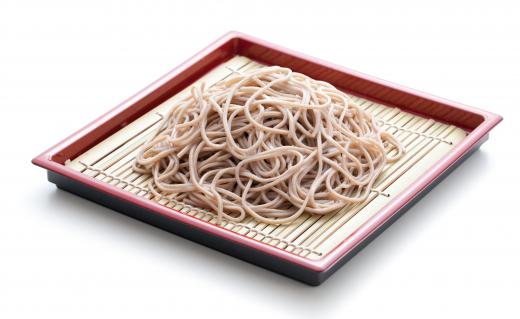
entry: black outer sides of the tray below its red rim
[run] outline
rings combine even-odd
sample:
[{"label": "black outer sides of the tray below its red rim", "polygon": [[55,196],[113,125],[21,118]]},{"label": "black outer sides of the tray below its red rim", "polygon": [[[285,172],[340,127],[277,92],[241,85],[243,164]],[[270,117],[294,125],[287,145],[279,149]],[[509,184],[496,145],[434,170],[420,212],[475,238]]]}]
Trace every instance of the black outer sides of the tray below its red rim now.
[{"label": "black outer sides of the tray below its red rim", "polygon": [[134,205],[130,202],[119,199],[115,196],[109,195],[105,192],[97,190],[93,187],[87,186],[74,179],[64,175],[47,171],[48,180],[62,190],[76,194],[78,196],[89,199],[93,202],[111,208],[121,214],[143,221],[160,229],[166,230],[170,233],[176,234],[183,238],[192,240],[199,244],[221,251],[227,255],[242,259],[249,263],[261,266],[265,269],[285,275],[289,278],[301,281],[311,286],[318,286],[328,279],[334,272],[336,272],[347,261],[354,257],[359,251],[372,242],[379,234],[401,217],[408,209],[410,209],[417,201],[425,196],[431,189],[439,184],[446,176],[449,175],[455,168],[462,164],[468,157],[470,157],[479,147],[488,139],[489,134],[485,135],[477,144],[475,144],[470,151],[465,153],[456,162],[454,162],[447,170],[439,175],[431,184],[423,189],[415,198],[401,208],[395,215],[387,220],[375,232],[370,234],[363,242],[352,249],[348,254],[340,258],[330,268],[325,271],[314,271],[287,260],[275,257],[268,253],[250,248],[245,245],[237,244],[231,240],[219,237],[214,234],[206,233],[200,229],[182,223],[180,221],[159,215],[148,209]]}]

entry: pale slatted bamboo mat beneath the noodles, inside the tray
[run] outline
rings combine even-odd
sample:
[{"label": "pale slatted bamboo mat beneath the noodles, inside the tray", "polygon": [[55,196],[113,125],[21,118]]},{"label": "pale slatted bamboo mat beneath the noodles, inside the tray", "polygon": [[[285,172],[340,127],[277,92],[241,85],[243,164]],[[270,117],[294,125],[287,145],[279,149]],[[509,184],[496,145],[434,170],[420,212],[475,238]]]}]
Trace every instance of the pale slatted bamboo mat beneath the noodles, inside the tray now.
[{"label": "pale slatted bamboo mat beneath the noodles, inside the tray", "polygon": [[[245,57],[237,56],[208,72],[194,85],[202,82],[213,85],[235,71],[242,72],[261,66]],[[189,88],[176,94],[77,158],[67,161],[66,165],[91,178],[137,196],[158,201],[183,214],[216,224],[217,219],[213,212],[188,207],[167,198],[152,198],[146,188],[150,176],[137,174],[131,168],[139,147],[157,129],[162,114],[166,114],[170,107],[177,100],[185,97],[188,92]],[[248,218],[241,223],[224,220],[222,225],[215,225],[215,227],[225,227],[266,245],[277,246],[305,258],[319,259],[377,213],[395,195],[405,190],[466,136],[465,131],[455,126],[360,97],[353,96],[353,99],[374,115],[383,129],[392,132],[406,150],[403,158],[386,165],[364,203],[348,205],[336,214],[324,216],[304,214],[289,225],[266,225]],[[391,154],[395,151],[388,150],[388,152]]]}]

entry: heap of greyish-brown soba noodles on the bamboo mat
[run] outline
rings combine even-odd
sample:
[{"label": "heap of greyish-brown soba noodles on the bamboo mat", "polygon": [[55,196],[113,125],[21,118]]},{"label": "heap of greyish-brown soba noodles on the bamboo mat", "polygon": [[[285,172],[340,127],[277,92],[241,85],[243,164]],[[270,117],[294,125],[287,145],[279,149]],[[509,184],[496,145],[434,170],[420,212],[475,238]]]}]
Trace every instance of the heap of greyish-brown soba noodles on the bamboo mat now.
[{"label": "heap of greyish-brown soba noodles on the bamboo mat", "polygon": [[[387,144],[397,149],[391,158]],[[273,66],[193,86],[134,170],[152,176],[155,196],[213,210],[219,222],[283,224],[366,200],[385,163],[402,153],[347,94]]]}]

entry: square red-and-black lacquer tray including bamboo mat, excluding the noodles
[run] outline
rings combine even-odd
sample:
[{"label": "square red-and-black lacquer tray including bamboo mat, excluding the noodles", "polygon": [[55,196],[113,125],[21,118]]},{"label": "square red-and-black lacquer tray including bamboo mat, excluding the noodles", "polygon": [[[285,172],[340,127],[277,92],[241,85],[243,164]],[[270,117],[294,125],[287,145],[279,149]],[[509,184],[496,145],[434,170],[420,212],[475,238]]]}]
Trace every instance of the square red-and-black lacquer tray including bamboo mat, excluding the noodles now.
[{"label": "square red-and-black lacquer tray including bamboo mat, excluding the noodles", "polygon": [[[217,224],[216,215],[153,198],[150,176],[131,169],[137,149],[191,85],[280,65],[344,90],[406,155],[387,164],[368,200],[289,225],[253,219]],[[229,255],[319,285],[476,150],[501,117],[231,32],[141,92],[53,146],[33,163],[59,188]],[[393,150],[388,150],[393,152]]]}]

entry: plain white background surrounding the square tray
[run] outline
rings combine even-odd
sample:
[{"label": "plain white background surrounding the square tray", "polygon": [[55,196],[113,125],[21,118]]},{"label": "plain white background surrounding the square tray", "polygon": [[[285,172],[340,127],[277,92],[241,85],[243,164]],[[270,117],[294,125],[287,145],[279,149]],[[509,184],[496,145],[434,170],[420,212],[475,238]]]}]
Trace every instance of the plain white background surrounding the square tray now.
[{"label": "plain white background surrounding the square tray", "polygon": [[[1,318],[520,316],[513,2],[145,2],[0,2]],[[317,288],[58,191],[30,164],[229,30],[505,120]]]}]

